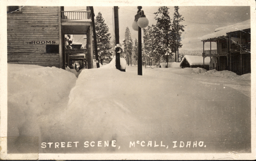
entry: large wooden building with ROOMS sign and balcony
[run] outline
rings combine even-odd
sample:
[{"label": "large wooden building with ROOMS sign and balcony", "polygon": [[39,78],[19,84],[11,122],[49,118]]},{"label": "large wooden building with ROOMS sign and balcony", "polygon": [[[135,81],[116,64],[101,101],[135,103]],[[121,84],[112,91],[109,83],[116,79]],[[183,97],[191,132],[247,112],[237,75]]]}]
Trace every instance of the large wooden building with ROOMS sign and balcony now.
[{"label": "large wooden building with ROOMS sign and balcony", "polygon": [[[87,68],[93,68],[92,23],[86,8],[64,11],[61,6],[7,6],[8,63],[64,69],[70,55],[84,53]],[[86,35],[86,49],[65,49],[65,35]]]}]

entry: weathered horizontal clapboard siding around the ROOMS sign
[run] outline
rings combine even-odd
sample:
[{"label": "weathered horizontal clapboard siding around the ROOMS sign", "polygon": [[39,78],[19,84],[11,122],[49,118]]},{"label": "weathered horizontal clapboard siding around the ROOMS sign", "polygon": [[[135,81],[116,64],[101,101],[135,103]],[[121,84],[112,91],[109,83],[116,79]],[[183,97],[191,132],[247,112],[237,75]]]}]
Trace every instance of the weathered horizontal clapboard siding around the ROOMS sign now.
[{"label": "weathered horizontal clapboard siding around the ROOMS sign", "polygon": [[24,44],[32,40],[59,40],[59,11],[55,6],[24,6],[21,13],[7,14],[9,63],[60,66],[59,53],[46,53],[45,44]]}]

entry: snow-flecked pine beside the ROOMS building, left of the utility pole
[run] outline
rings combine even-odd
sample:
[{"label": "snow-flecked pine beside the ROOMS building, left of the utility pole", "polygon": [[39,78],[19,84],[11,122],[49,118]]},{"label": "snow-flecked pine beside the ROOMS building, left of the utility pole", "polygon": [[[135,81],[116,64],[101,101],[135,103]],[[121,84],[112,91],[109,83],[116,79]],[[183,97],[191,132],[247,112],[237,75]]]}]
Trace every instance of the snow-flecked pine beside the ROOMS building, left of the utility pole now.
[{"label": "snow-flecked pine beside the ROOMS building, left of the utility pole", "polygon": [[97,36],[97,43],[102,43],[104,45],[104,48],[99,48],[98,49],[98,55],[99,55],[99,60],[102,61],[103,59],[110,60],[113,51],[113,46],[111,45],[110,42],[110,33],[109,28],[107,24],[105,23],[105,20],[102,17],[102,14],[99,12],[98,15],[96,16],[95,20],[95,30],[96,30],[96,36]]}]

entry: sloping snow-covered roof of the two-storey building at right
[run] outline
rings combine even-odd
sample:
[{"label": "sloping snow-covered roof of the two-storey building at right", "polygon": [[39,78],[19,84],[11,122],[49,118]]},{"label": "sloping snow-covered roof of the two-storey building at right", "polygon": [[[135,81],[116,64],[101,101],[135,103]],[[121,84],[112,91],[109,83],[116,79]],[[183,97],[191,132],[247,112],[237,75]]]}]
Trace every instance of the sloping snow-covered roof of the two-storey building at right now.
[{"label": "sloping snow-covered roof of the two-storey building at right", "polygon": [[243,21],[241,23],[236,23],[234,25],[219,27],[215,29],[215,32],[204,35],[201,40],[203,41],[203,40],[214,39],[217,37],[223,37],[223,36],[227,36],[227,33],[236,32],[236,31],[245,30],[245,29],[250,29],[250,19]]}]

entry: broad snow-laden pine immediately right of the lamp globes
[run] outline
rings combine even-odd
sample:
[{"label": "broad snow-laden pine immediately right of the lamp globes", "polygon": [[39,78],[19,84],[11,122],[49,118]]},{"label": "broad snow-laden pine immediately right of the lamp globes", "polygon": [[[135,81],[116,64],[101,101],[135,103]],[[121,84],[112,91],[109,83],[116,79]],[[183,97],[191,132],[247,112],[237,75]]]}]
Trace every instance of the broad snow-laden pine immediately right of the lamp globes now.
[{"label": "broad snow-laden pine immediately right of the lamp globes", "polygon": [[[168,7],[160,7],[157,12],[155,20],[156,25],[152,25],[149,28],[151,41],[152,54],[154,60],[158,61],[161,57],[166,57],[166,61],[169,60],[169,56],[172,56],[171,46],[171,18],[169,16]],[[166,55],[166,56],[165,56]],[[168,55],[168,56],[167,56]],[[171,57],[172,58],[172,57]]]}]

